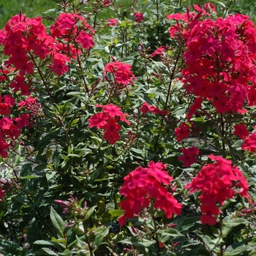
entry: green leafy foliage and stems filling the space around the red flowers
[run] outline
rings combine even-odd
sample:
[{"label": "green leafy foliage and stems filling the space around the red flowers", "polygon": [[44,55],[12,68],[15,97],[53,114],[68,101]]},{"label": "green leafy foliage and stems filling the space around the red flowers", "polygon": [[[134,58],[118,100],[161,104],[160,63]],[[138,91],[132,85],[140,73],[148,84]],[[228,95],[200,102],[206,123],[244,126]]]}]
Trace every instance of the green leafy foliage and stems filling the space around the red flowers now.
[{"label": "green leafy foliage and stems filling the space around the red flowers", "polygon": [[[253,5],[211,2],[217,4],[219,17],[249,14]],[[57,8],[56,3],[60,4]],[[15,9],[15,13],[7,12],[14,6],[12,1],[4,4],[4,9],[0,8],[4,15],[17,14]],[[193,116],[194,134],[181,143],[176,140],[175,129],[186,121],[193,97],[185,94],[178,79],[185,65],[185,45],[170,38],[168,29],[174,22],[166,15],[186,12],[187,4],[194,1],[132,1],[124,6],[121,1],[111,1],[109,7],[103,7],[102,1],[23,1],[27,16],[56,19],[59,12],[75,12],[83,15],[96,33],[94,47],[81,49],[64,75],[57,76],[49,60],[39,58],[34,59],[34,74],[26,74],[31,95],[42,108],[37,109],[33,126],[23,129],[15,143],[10,142],[9,157],[1,157],[5,169],[1,172],[5,196],[0,202],[3,255],[255,255],[254,204],[250,206],[238,196],[226,200],[219,206],[217,224],[202,225],[199,195],[189,195],[184,189],[210,162],[207,155],[216,154],[232,159],[243,170],[253,200],[256,196],[255,154],[242,151],[243,141],[232,132],[233,124],[241,121],[252,131],[254,108],[248,108],[246,117],[223,117],[204,102],[204,110],[214,118]],[[137,23],[133,13],[140,11],[144,20]],[[118,26],[105,26],[108,18],[118,19]],[[48,19],[45,24],[52,23]],[[168,48],[164,59],[151,57],[161,45]],[[2,58],[4,63],[4,55]],[[132,66],[137,78],[133,85],[115,90],[113,74],[104,72],[114,60]],[[10,88],[14,78],[12,70],[8,79],[1,81],[1,95],[11,94],[18,102],[26,97]],[[145,114],[140,109],[143,102],[167,113]],[[118,105],[130,122],[120,121],[121,138],[113,145],[104,138],[104,130],[89,126],[89,118],[102,110],[97,105],[110,103]],[[23,111],[14,106],[12,118]],[[178,160],[179,148],[194,145],[202,155],[194,165],[184,167]],[[119,189],[124,177],[151,160],[167,165],[174,178],[169,190],[182,203],[182,213],[167,219],[151,202],[148,209],[120,227],[124,198]]]}]

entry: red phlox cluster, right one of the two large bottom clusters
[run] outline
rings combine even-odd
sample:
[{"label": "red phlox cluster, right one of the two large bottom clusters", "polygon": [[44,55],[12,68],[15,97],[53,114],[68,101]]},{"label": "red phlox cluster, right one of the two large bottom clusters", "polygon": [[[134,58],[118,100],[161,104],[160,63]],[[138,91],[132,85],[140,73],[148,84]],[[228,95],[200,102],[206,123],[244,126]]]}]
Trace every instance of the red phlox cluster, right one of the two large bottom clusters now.
[{"label": "red phlox cluster, right one of the two large bottom clusters", "polygon": [[215,225],[216,217],[220,214],[218,204],[223,206],[225,200],[233,198],[234,195],[247,198],[249,203],[251,199],[246,178],[236,165],[232,165],[231,161],[222,157],[210,155],[208,158],[216,162],[203,166],[185,189],[190,189],[190,192],[201,192],[203,215],[200,220],[203,224]]}]

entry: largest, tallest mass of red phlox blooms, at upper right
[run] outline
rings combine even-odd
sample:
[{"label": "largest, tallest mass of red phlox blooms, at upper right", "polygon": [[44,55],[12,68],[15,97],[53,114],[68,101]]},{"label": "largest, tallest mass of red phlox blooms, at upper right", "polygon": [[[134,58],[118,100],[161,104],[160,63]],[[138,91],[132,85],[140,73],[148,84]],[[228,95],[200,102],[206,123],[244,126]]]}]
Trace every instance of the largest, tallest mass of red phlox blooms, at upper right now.
[{"label": "largest, tallest mass of red phlox blooms, at upper right", "polygon": [[187,46],[184,86],[189,94],[211,101],[217,113],[244,113],[246,100],[256,103],[255,26],[240,14],[199,20],[203,14],[208,15],[186,14],[180,18],[188,26],[176,26]]}]

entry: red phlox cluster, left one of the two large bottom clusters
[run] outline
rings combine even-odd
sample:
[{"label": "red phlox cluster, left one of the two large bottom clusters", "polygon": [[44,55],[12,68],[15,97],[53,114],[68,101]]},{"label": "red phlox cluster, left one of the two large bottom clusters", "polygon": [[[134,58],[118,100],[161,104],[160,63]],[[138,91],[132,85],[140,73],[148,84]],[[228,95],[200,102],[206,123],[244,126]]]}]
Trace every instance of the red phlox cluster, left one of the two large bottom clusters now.
[{"label": "red phlox cluster, left one of the two large bottom clusters", "polygon": [[173,181],[173,177],[167,173],[166,165],[153,161],[148,167],[137,167],[124,177],[120,193],[126,199],[120,202],[120,207],[125,212],[119,217],[119,224],[123,226],[127,219],[140,213],[142,208],[147,208],[151,200],[154,200],[155,208],[165,212],[167,218],[181,214],[181,203],[167,189],[170,181]]}]

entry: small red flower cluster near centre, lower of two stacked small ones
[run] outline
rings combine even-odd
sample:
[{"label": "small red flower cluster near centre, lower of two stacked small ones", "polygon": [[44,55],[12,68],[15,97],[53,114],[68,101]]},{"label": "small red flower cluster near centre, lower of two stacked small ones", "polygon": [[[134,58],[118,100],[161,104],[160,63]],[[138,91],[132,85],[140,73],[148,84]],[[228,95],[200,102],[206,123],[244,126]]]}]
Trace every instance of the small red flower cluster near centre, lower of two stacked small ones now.
[{"label": "small red flower cluster near centre, lower of two stacked small ones", "polygon": [[117,124],[118,121],[124,121],[127,124],[130,122],[127,120],[127,114],[121,112],[121,108],[113,103],[109,105],[96,105],[96,108],[102,108],[102,113],[97,113],[89,118],[89,127],[97,127],[98,129],[104,129],[104,138],[113,145],[116,141],[120,140],[118,133],[121,130],[121,126]]}]

